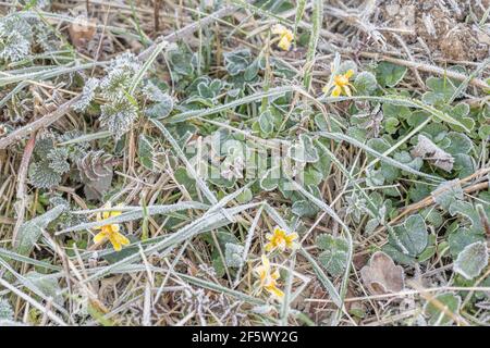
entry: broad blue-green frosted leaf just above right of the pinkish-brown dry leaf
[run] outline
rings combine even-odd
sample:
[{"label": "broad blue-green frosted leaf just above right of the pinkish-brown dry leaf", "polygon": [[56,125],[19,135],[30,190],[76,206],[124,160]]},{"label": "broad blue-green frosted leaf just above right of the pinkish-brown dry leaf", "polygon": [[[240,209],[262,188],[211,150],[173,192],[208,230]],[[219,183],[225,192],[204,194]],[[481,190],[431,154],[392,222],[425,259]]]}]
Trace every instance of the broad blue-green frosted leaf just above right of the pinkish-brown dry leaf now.
[{"label": "broad blue-green frosted leaf just above right of the pinkish-brown dry leaf", "polygon": [[393,226],[389,236],[390,245],[406,256],[416,258],[427,247],[428,233],[424,217],[420,214],[412,215],[400,225]]}]

